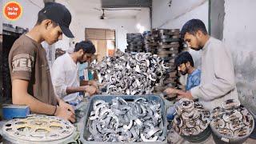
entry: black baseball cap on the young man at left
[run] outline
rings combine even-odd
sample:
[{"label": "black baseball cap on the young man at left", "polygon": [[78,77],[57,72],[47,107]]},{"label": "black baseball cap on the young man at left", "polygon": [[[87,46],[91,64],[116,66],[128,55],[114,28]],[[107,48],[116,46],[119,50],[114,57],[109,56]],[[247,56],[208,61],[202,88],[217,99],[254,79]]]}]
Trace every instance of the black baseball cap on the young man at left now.
[{"label": "black baseball cap on the young man at left", "polygon": [[45,7],[40,11],[46,18],[56,22],[58,26],[61,27],[62,33],[65,34],[66,37],[74,38],[74,35],[69,28],[72,16],[66,6],[57,2],[47,2]]}]

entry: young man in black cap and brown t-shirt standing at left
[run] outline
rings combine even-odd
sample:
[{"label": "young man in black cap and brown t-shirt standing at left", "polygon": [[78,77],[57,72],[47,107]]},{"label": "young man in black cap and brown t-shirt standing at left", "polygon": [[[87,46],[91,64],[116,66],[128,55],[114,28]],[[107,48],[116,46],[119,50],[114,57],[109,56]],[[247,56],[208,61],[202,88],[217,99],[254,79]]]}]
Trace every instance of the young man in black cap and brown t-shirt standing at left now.
[{"label": "young man in black cap and brown t-shirt standing at left", "polygon": [[62,39],[62,33],[74,38],[70,32],[70,11],[65,6],[50,2],[38,12],[38,22],[27,34],[18,38],[9,54],[12,82],[12,102],[30,106],[37,114],[55,115],[75,121],[74,109],[54,94],[46,51],[41,42],[49,45]]}]

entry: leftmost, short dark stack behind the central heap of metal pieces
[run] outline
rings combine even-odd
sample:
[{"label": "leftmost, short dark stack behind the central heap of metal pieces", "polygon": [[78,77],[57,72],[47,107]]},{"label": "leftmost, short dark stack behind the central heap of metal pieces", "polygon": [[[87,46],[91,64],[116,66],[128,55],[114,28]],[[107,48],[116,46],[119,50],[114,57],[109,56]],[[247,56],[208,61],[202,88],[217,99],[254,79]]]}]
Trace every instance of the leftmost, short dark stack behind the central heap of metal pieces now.
[{"label": "leftmost, short dark stack behind the central heap of metal pieces", "polygon": [[143,38],[140,33],[127,33],[127,52],[143,52]]}]

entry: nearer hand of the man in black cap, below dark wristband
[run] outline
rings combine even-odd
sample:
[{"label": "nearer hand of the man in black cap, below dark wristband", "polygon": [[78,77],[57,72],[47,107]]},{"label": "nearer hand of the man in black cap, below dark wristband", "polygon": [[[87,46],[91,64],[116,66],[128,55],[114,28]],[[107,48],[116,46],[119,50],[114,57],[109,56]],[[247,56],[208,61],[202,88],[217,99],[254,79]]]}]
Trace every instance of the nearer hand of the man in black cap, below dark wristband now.
[{"label": "nearer hand of the man in black cap, below dark wristband", "polygon": [[57,106],[57,110],[54,115],[67,121],[75,122],[74,113],[71,110],[66,109],[66,107]]}]

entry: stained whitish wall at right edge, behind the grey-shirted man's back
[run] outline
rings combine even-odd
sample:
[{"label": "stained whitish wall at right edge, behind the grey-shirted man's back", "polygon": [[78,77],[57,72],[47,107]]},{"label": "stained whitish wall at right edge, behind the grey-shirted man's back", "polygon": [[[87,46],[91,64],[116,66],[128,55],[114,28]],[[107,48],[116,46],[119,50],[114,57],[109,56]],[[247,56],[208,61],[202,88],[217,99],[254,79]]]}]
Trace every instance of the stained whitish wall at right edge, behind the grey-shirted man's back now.
[{"label": "stained whitish wall at right edge, behind the grey-shirted man's back", "polygon": [[238,94],[256,114],[256,17],[254,0],[225,0],[223,42],[230,47]]}]

